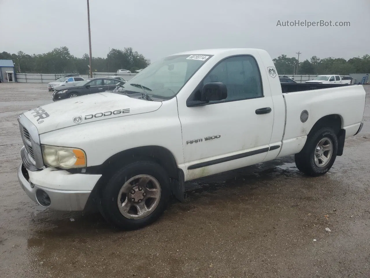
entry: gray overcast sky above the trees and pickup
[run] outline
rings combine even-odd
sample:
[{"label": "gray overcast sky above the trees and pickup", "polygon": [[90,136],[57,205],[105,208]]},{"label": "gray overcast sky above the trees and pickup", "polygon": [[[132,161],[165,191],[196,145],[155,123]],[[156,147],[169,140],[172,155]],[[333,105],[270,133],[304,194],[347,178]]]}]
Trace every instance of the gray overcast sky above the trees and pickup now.
[{"label": "gray overcast sky above the trees and pickup", "polygon": [[[276,27],[277,20],[350,27]],[[252,47],[300,60],[370,54],[370,0],[90,0],[92,56],[131,46],[152,62],[172,53]],[[86,0],[0,0],[0,52],[88,53]]]}]

